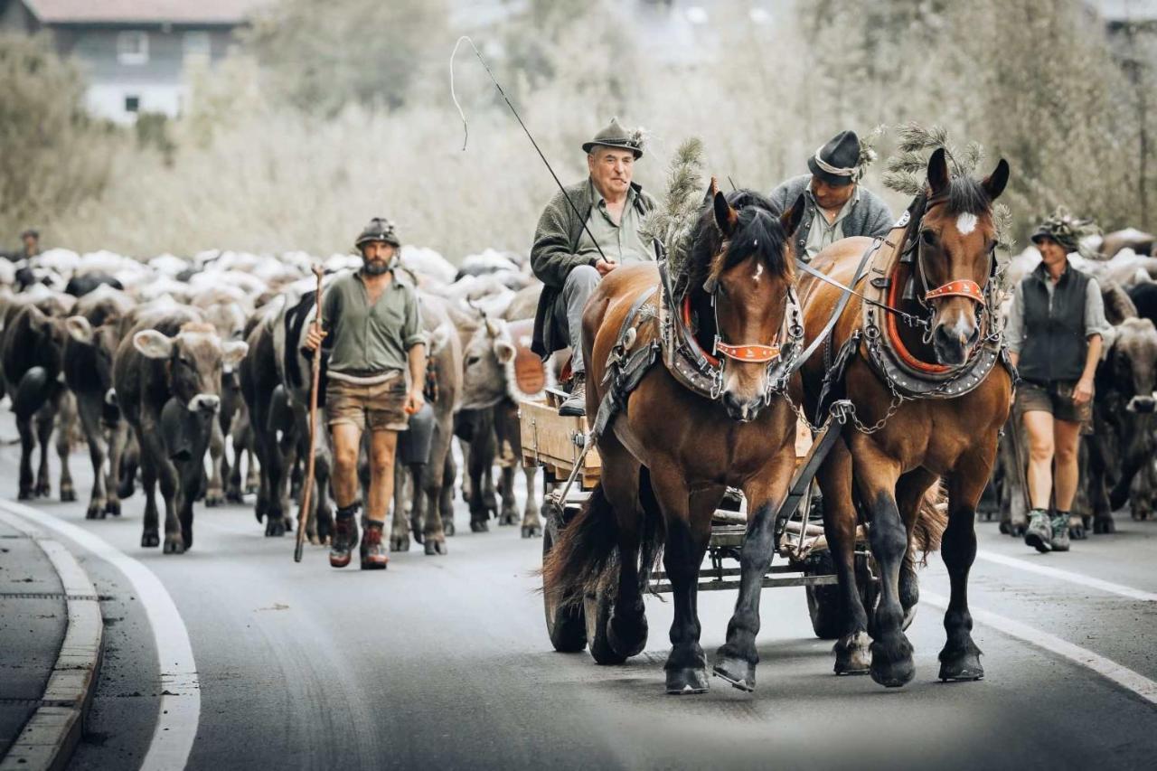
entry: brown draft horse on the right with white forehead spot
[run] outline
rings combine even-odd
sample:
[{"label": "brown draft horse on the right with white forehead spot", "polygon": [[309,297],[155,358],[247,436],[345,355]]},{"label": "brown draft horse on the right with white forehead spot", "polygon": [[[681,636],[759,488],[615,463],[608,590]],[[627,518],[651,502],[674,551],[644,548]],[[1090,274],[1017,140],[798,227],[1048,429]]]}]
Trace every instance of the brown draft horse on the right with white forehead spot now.
[{"label": "brown draft horse on the right with white forehead spot", "polygon": [[[921,362],[933,367],[959,366],[979,342],[979,299],[964,296],[966,293],[936,292],[936,287],[943,289],[953,281],[958,282],[956,288],[966,281],[973,281],[974,287],[988,282],[995,247],[992,204],[1004,190],[1008,176],[1009,167],[1003,160],[989,177],[977,182],[967,176],[951,178],[943,149],[929,159],[927,207],[919,223],[909,226],[919,242],[915,267],[923,271],[924,286],[918,281],[919,299],[899,301],[899,310],[915,316],[930,314],[929,335],[926,337],[919,328],[904,323],[893,325],[900,342]],[[898,242],[902,237],[899,233],[893,230],[889,241]],[[812,266],[847,285],[870,245],[869,238],[845,238],[817,255]],[[887,242],[882,247],[889,248],[893,247]],[[799,292],[804,329],[813,339],[830,318],[841,289],[805,277]],[[980,294],[975,288],[971,293]],[[832,351],[839,350],[862,326],[862,311],[863,301],[853,296],[832,332]],[[843,391],[855,405],[861,425],[872,426],[894,407],[894,397],[869,368],[865,355],[861,343],[848,365]],[[804,390],[809,398],[818,394],[824,369],[824,357],[812,357],[804,365]],[[915,605],[918,589],[911,561],[908,570],[901,570],[901,564],[911,560],[909,537],[920,501],[943,478],[949,512],[942,551],[952,590],[944,615],[948,641],[939,654],[939,677],[967,681],[983,676],[980,649],[972,640],[967,600],[968,570],[977,552],[973,519],[996,457],[998,432],[1008,419],[1011,390],[1009,372],[995,366],[974,390],[963,396],[904,401],[875,433],[849,426],[843,442],[835,443],[820,468],[817,478],[824,495],[824,529],[835,558],[846,623],[835,644],[837,674],[868,670],[877,683],[893,688],[915,675],[912,645],[901,623],[906,611]],[[870,522],[869,544],[880,572],[880,597],[870,627],[870,648],[868,614],[856,590],[853,570],[857,505]]]}]

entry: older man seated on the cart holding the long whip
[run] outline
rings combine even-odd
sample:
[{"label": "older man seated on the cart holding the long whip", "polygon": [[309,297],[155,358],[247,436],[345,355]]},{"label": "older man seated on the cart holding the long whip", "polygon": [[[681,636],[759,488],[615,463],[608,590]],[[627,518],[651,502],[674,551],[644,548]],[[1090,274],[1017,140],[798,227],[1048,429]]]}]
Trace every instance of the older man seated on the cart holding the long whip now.
[{"label": "older man seated on the cart holding the long whip", "polygon": [[643,155],[642,131],[616,118],[584,142],[589,175],[560,190],[538,219],[530,264],[543,284],[535,315],[532,350],[546,358],[570,346],[574,380],[559,414],[587,412],[587,367],[582,360],[582,310],[602,277],[625,263],[654,259],[639,234],[655,199],[633,181]]}]

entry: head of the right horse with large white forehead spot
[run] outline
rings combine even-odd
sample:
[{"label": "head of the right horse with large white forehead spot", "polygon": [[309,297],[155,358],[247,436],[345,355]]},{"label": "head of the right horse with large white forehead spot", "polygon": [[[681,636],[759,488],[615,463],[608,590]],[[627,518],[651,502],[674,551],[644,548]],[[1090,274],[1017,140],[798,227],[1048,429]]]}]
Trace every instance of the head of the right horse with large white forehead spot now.
[{"label": "head of the right horse with large white forehead spot", "polygon": [[995,266],[992,207],[1009,181],[1009,164],[978,182],[949,174],[944,148],[928,159],[928,185],[916,237],[922,301],[933,310],[930,331],[937,364],[964,364],[980,338],[978,310]]}]

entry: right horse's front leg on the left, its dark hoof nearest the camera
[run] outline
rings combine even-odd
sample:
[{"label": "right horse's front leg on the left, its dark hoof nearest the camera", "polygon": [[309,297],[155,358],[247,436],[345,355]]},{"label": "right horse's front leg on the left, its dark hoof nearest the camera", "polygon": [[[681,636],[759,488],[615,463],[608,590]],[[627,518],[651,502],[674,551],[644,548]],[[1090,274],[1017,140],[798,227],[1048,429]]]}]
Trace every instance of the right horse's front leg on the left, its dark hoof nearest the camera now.
[{"label": "right horse's front leg on the left, its dark hoof nearest the camera", "polygon": [[879,604],[871,624],[871,678],[886,688],[899,688],[916,674],[912,644],[904,634],[900,603],[900,568],[908,551],[908,531],[896,502],[900,465],[877,448],[870,436],[855,434],[853,457],[861,500],[871,509],[869,543],[879,566]]}]

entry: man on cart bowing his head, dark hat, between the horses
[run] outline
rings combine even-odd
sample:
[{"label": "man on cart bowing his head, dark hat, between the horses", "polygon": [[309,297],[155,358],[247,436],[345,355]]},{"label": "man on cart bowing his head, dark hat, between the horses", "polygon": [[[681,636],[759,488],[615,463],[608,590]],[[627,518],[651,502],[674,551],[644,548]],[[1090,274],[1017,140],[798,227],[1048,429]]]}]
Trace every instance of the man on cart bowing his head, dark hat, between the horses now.
[{"label": "man on cart bowing his head, dark hat, between the horses", "polygon": [[852,236],[887,233],[892,212],[887,204],[860,184],[860,138],[841,131],[808,159],[811,174],[793,177],[772,191],[772,203],[787,211],[804,193],[806,207],[795,233],[796,254],[811,262],[821,249]]}]

